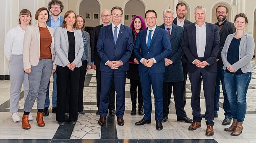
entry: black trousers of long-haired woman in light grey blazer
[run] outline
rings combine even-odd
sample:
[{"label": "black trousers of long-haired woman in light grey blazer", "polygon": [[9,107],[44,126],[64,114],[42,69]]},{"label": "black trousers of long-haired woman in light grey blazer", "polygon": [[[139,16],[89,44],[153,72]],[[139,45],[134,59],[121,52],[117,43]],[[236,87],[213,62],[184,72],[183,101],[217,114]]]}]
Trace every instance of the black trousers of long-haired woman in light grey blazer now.
[{"label": "black trousers of long-haired woman in light grey blazer", "polygon": [[[66,103],[69,102],[69,120],[77,120],[78,111],[78,88],[80,68],[70,70],[67,66],[61,67],[57,65],[57,111],[56,120],[58,122],[65,121]],[[69,89],[69,91],[68,91]],[[69,101],[66,96],[69,95]]]}]

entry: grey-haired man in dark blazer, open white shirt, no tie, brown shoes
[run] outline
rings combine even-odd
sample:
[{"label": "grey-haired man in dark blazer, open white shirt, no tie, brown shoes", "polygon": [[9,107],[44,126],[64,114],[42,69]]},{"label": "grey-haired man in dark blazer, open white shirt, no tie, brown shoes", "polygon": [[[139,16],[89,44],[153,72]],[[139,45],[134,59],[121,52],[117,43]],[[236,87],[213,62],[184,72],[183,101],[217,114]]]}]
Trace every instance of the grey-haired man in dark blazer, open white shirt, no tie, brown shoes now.
[{"label": "grey-haired man in dark blazer, open white shirt, no tie, brown shoes", "polygon": [[203,79],[205,97],[206,135],[214,135],[214,90],[217,76],[216,58],[219,53],[219,33],[217,25],[206,23],[206,9],[197,6],[194,10],[196,23],[185,26],[181,48],[186,55],[187,70],[191,82],[191,107],[193,123],[188,130],[201,127],[200,93]]}]

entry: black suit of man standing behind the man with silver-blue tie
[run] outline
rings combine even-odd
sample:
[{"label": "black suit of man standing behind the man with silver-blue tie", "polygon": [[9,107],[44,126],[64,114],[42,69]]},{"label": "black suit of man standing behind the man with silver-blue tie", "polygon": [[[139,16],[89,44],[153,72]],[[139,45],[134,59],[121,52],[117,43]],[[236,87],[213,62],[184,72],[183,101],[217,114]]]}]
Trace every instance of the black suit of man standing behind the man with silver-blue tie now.
[{"label": "black suit of man standing behind the man with silver-blue tie", "polygon": [[[97,92],[96,92],[96,98],[97,98],[97,107],[99,109],[99,101],[100,101],[100,85],[101,85],[101,71],[100,68],[100,58],[97,52],[97,42],[99,38],[99,31],[100,28],[103,27],[103,24],[98,25],[93,28],[92,34],[91,34],[91,61],[94,62],[94,65],[96,65],[96,83],[97,83]],[[112,86],[110,89],[110,95],[109,95],[109,110],[115,110],[115,84],[114,81],[112,82]]]}]

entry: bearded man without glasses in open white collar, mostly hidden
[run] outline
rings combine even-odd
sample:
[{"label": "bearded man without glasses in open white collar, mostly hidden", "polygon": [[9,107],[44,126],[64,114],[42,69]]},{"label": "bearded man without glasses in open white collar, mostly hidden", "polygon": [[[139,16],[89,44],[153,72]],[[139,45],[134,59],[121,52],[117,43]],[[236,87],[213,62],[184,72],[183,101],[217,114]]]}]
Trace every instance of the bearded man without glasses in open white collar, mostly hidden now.
[{"label": "bearded man without glasses in open white collar, mostly hidden", "polygon": [[[186,25],[191,24],[191,21],[185,19],[185,15],[187,13],[187,5],[183,2],[178,3],[176,5],[176,13],[177,13],[177,18],[173,20],[173,23],[175,25],[185,27]],[[186,83],[187,83],[187,78],[188,78],[188,72],[186,69],[186,56],[182,56],[182,68],[183,68],[183,95],[184,95],[184,105],[186,105]]]}]

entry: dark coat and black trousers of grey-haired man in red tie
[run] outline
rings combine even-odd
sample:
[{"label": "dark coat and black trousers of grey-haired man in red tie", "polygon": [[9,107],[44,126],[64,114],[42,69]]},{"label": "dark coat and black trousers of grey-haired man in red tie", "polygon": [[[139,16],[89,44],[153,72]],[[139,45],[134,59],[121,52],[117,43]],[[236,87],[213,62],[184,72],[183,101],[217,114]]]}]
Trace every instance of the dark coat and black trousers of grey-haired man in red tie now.
[{"label": "dark coat and black trousers of grey-haired man in red tie", "polygon": [[[165,23],[159,28],[165,29]],[[164,88],[163,88],[163,116],[169,114],[169,105],[173,87],[173,96],[177,118],[185,117],[184,96],[183,96],[183,70],[181,56],[183,51],[180,48],[183,28],[172,23],[170,42],[172,45],[172,54],[166,58],[172,60],[172,64],[165,66]]]}]

